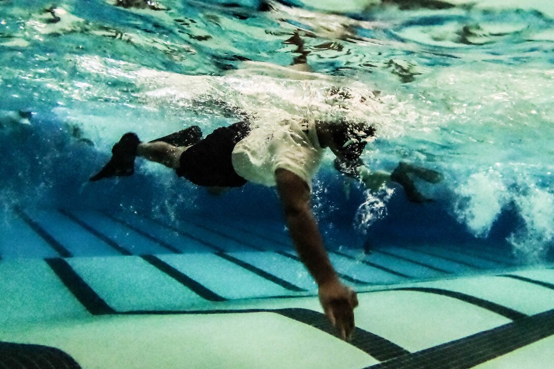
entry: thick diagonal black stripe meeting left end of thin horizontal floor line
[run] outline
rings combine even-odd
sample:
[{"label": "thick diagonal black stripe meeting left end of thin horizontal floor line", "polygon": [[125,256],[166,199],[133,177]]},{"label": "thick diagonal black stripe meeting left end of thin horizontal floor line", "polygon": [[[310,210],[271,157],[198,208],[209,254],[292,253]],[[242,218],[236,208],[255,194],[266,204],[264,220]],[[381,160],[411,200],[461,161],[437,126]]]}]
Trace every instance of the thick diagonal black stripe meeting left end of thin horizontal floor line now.
[{"label": "thick diagonal black stripe meeting left end of thin horizontal floor line", "polygon": [[64,259],[45,259],[73,296],[93,315],[115,314],[115,310],[76,273]]}]

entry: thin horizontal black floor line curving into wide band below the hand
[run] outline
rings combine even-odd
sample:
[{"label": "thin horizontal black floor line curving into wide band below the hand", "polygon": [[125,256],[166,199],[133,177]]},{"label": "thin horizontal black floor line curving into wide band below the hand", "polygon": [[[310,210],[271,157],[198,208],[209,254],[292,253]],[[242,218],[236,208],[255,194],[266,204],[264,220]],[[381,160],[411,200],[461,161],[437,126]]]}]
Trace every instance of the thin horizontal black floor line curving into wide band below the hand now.
[{"label": "thin horizontal black floor line curving into wide band below the hand", "polygon": [[[297,322],[307,324],[317,330],[325,332],[331,336],[337,337],[336,329],[327,320],[325,314],[321,312],[302,309],[302,308],[286,308],[286,309],[245,309],[245,310],[196,310],[196,311],[175,311],[175,310],[137,310],[117,312],[119,315],[212,315],[212,314],[250,314],[254,312],[273,312],[283,315]],[[377,360],[391,360],[394,357],[409,354],[409,351],[394,344],[381,336],[356,327],[352,340],[348,344],[362,350],[363,352],[375,357]]]}]

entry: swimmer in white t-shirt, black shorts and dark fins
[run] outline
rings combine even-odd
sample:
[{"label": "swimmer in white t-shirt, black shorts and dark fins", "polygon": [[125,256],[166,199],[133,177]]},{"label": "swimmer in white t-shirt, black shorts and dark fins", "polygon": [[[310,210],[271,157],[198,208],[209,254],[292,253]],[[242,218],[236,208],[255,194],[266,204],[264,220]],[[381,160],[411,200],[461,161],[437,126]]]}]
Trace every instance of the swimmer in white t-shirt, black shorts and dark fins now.
[{"label": "swimmer in white t-shirt, black shorts and dark fins", "polygon": [[[348,340],[355,327],[353,310],[358,300],[355,291],[341,283],[325,250],[311,212],[311,180],[325,148],[336,155],[341,172],[362,181],[369,178],[358,158],[374,134],[375,129],[365,124],[305,119],[284,120],[270,129],[241,121],[220,127],[204,139],[198,126],[150,142],[127,133],[112,148],[110,161],[90,181],[130,176],[135,171],[135,157],[140,156],[214,191],[247,182],[276,186],[291,239],[317,283],[321,306],[342,339]],[[405,168],[399,166],[388,178],[403,178],[409,172]],[[404,183],[404,179],[399,181]]]}]

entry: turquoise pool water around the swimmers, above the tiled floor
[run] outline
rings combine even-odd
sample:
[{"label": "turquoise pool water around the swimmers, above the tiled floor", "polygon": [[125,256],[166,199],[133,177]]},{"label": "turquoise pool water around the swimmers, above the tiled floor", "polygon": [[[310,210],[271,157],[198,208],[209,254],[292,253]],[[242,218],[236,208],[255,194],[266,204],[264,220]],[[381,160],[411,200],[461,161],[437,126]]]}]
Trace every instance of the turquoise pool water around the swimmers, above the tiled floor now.
[{"label": "turquoise pool water around the swimmers, above the tiled floor", "polygon": [[[127,131],[150,140],[198,124],[206,134],[237,111],[268,124],[346,114],[377,127],[370,168],[404,160],[445,180],[419,183],[435,201],[416,205],[396,187],[345,183],[329,154],[314,182],[328,243],[478,244],[552,259],[554,6],[217,3],[0,2],[4,218],[21,207],[279,219],[273,189],[250,184],[216,198],[146,162],[131,178],[88,178]],[[330,100],[332,89],[351,98]]]}]

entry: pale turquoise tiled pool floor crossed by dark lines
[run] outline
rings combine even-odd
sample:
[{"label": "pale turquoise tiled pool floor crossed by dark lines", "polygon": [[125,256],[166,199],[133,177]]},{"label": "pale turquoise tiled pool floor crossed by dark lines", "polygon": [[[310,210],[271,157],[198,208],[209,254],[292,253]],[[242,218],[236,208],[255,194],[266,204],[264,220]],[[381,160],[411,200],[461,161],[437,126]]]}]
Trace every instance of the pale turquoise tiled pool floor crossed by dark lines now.
[{"label": "pale turquoise tiled pool floor crossed by dark lines", "polygon": [[[0,238],[0,341],[55,347],[84,368],[553,361],[548,266],[521,270],[498,255],[445,247],[365,258],[336,250],[342,278],[360,291],[347,344],[321,314],[285,234],[215,222],[167,227],[125,214],[21,211]],[[0,364],[14,367],[8,359],[0,355]]]}]

